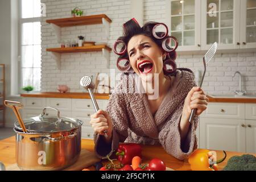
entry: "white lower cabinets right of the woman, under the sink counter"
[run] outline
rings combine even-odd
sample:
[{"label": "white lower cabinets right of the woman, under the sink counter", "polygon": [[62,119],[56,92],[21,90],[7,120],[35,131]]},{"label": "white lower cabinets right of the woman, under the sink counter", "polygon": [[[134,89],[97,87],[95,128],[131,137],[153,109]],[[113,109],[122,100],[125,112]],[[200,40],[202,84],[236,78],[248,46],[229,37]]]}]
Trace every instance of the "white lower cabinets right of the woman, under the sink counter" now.
[{"label": "white lower cabinets right of the woman, under the sink counter", "polygon": [[214,103],[200,117],[200,148],[256,152],[256,104]]}]

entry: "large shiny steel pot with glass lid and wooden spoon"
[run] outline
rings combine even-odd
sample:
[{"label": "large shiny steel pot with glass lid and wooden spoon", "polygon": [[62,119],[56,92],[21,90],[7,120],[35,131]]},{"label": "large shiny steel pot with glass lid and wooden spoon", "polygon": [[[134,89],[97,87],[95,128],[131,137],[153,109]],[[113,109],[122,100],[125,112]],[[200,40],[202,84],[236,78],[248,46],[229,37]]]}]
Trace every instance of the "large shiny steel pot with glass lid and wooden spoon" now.
[{"label": "large shiny steel pot with glass lid and wooden spoon", "polygon": [[[46,109],[57,111],[57,117],[44,117]],[[38,117],[24,119],[27,132],[15,123],[16,162],[23,170],[60,170],[71,166],[81,151],[82,121],[60,117],[60,111],[44,107]]]}]

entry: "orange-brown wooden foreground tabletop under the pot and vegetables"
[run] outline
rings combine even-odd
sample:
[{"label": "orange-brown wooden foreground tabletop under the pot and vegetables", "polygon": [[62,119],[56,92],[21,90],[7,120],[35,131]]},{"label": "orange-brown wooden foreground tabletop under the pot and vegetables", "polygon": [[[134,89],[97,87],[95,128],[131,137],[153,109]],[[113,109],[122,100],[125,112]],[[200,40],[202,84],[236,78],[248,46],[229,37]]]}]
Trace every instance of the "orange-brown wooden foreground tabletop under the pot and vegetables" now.
[{"label": "orange-brown wooden foreground tabletop under the pot and vegetables", "polygon": [[[81,142],[82,148],[85,148],[88,151],[94,151],[94,142],[91,139],[82,139]],[[221,159],[224,154],[223,151],[217,152],[217,159]],[[221,164],[218,164],[219,169],[223,169],[226,166],[226,163],[228,162],[228,159],[230,159],[234,155],[242,155],[243,153],[240,152],[229,152],[227,151],[227,157],[224,162]],[[256,154],[252,154],[255,155]],[[142,163],[148,163],[152,158],[159,158],[166,163],[167,167],[170,167],[175,170],[179,171],[188,171],[190,169],[190,165],[188,163],[188,160],[178,160],[174,158],[173,156],[167,154],[166,151],[164,151],[162,146],[148,146],[148,145],[142,145]],[[0,140],[0,161],[5,164],[5,166],[9,166],[11,164],[16,163],[15,159],[15,137],[6,138],[3,140]],[[108,160],[105,160],[104,164],[106,164]],[[90,170],[95,170],[95,168],[89,167]]]}]

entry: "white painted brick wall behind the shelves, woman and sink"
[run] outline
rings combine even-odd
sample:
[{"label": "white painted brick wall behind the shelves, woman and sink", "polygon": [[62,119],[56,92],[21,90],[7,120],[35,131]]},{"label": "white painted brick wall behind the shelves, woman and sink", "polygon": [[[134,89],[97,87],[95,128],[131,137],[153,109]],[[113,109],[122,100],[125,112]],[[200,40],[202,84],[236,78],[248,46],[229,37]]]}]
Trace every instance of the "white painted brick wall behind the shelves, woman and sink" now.
[{"label": "white painted brick wall behind the shelves, woman and sink", "polygon": [[[102,24],[61,28],[61,40],[77,39],[84,35],[87,41],[108,42],[112,47],[114,41],[122,35],[122,24],[130,17],[130,0],[72,0],[53,1],[42,0],[46,3],[46,17],[42,18],[42,92],[56,92],[58,84],[66,84],[70,92],[84,92],[79,86],[82,76],[93,75],[97,72],[109,74],[101,52],[67,53],[61,55],[61,68],[57,69],[46,48],[59,47],[55,33],[47,19],[68,18],[73,7],[80,7],[84,15],[106,14],[112,19],[110,23],[110,37],[106,39]],[[166,0],[144,0],[144,22],[165,20]],[[176,63],[178,67],[191,68],[196,72],[202,69],[201,62],[204,55],[179,55]],[[116,68],[117,55],[110,53],[110,68]],[[222,53],[214,56],[207,68],[204,78],[204,90],[209,94],[232,94],[238,90],[238,76],[232,78],[233,73],[240,71],[244,76],[243,89],[247,93],[256,95],[256,53]]]}]

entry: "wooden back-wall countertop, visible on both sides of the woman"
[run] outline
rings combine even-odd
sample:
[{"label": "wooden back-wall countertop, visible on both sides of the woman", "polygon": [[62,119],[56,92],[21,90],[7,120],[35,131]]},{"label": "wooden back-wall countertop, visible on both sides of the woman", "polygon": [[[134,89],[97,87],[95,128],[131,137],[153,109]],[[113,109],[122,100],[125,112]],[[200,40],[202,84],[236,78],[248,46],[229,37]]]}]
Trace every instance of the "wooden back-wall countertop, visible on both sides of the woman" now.
[{"label": "wooden back-wall countertop, visible on both sides of the woman", "polygon": [[[22,97],[45,97],[45,98],[88,98],[90,99],[89,93],[79,93],[79,92],[69,92],[69,93],[59,93],[59,92],[39,92],[39,93],[23,93],[20,94]],[[94,93],[96,99],[109,99],[109,94]],[[210,97],[209,102],[233,102],[233,103],[255,103],[256,98],[223,98],[223,97]]]}]

